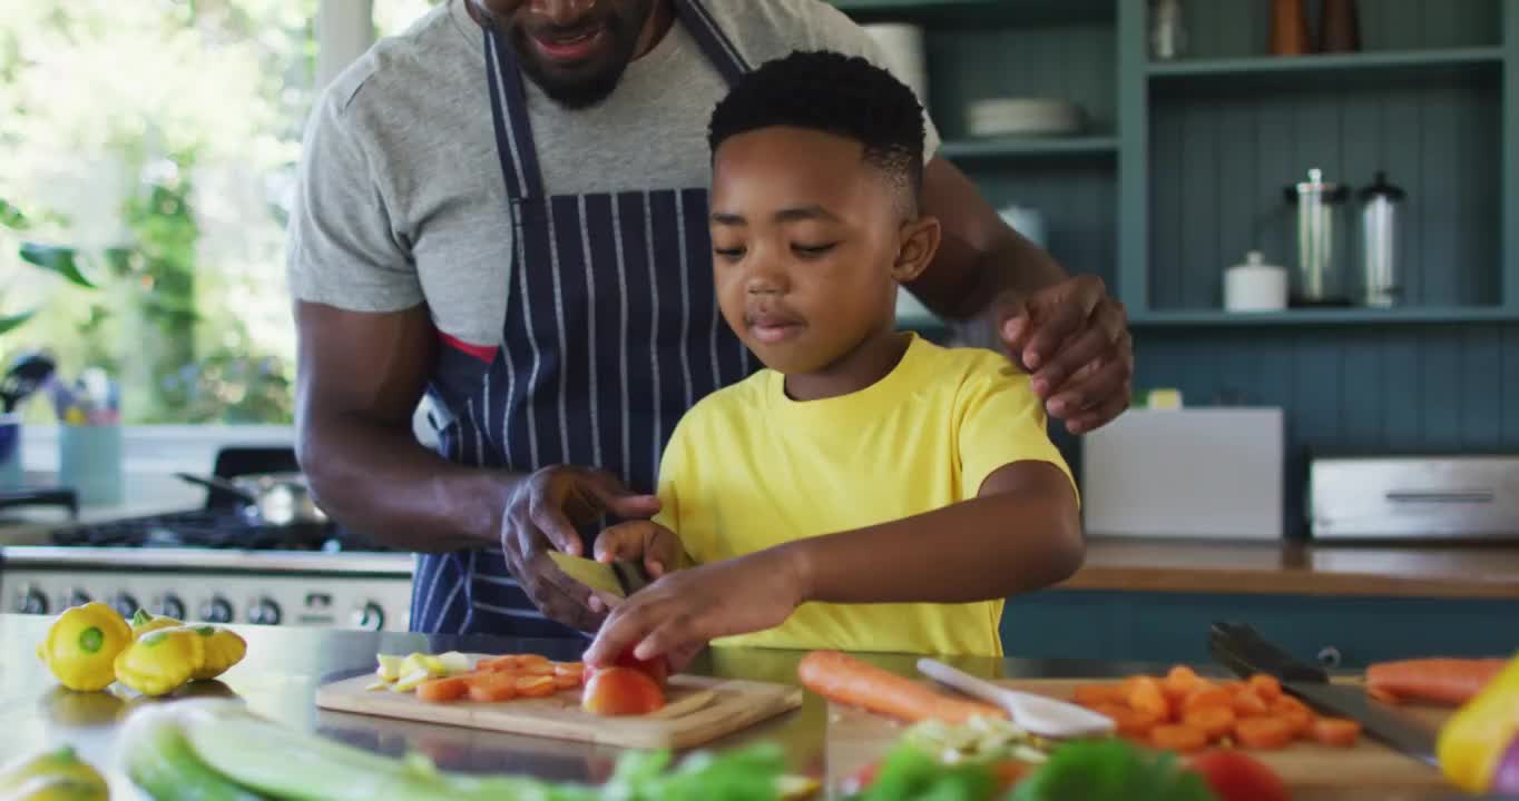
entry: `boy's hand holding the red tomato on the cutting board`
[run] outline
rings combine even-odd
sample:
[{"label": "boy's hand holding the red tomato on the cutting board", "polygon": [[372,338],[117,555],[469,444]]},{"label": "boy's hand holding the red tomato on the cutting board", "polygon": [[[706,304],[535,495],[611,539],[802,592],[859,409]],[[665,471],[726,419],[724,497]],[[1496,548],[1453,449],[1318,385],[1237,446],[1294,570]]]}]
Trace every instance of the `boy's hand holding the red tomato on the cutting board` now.
[{"label": "boy's hand holding the red tomato on the cutting board", "polygon": [[641,660],[690,658],[717,637],[785,622],[805,599],[802,583],[785,549],[674,570],[612,610],[585,661],[603,668],[627,649]]}]

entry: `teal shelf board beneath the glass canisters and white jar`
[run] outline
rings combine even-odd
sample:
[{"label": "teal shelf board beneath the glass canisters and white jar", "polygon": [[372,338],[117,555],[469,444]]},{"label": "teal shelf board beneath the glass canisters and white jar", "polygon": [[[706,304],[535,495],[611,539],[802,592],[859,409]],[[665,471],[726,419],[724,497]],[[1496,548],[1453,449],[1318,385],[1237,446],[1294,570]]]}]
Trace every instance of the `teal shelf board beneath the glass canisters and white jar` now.
[{"label": "teal shelf board beneath the glass canisters and white jar", "polygon": [[1294,308],[1287,311],[1176,309],[1132,314],[1135,328],[1352,326],[1519,322],[1505,306]]}]

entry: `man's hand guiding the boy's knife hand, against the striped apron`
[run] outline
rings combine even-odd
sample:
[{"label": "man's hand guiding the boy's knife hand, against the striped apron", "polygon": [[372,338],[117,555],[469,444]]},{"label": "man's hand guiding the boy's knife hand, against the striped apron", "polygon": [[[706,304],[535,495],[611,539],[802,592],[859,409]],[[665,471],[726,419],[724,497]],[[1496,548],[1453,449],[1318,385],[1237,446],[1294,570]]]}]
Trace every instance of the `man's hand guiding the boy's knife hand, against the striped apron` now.
[{"label": "man's hand guiding the boy's knife hand, against the striped apron", "polygon": [[544,467],[518,484],[501,516],[506,569],[548,619],[591,631],[600,614],[586,607],[586,587],[567,576],[548,558],[548,551],[579,555],[582,543],[576,526],[606,513],[652,517],[658,511],[658,498],[632,495],[603,470]]}]

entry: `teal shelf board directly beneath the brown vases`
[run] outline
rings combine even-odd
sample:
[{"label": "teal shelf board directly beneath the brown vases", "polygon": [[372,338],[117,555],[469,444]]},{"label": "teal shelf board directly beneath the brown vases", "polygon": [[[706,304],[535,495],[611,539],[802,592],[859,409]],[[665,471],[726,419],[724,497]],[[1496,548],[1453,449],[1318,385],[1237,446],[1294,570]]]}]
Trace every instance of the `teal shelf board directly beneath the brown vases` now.
[{"label": "teal shelf board directly beneath the brown vases", "polygon": [[1369,53],[1326,53],[1311,56],[1262,56],[1226,59],[1179,59],[1151,62],[1151,79],[1203,79],[1305,73],[1467,70],[1499,65],[1499,47],[1457,47],[1446,50],[1390,50]]}]

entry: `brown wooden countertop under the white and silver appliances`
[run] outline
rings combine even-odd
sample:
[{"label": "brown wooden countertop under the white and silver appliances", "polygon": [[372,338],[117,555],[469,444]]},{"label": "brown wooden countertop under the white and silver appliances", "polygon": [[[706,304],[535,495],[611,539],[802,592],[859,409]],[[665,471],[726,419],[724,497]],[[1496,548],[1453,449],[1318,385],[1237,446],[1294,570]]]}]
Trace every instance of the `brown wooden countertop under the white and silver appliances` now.
[{"label": "brown wooden countertop under the white and silver appliances", "polygon": [[1091,539],[1072,590],[1519,599],[1519,546]]}]

